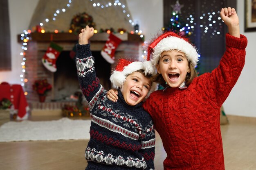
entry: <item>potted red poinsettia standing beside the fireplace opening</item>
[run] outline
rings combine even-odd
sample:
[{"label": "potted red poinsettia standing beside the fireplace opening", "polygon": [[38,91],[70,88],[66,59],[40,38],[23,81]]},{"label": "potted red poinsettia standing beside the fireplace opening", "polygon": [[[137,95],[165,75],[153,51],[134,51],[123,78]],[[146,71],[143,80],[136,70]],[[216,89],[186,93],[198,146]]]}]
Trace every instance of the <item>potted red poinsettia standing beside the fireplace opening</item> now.
[{"label": "potted red poinsettia standing beside the fireplace opening", "polygon": [[47,79],[36,80],[33,84],[33,89],[39,95],[39,101],[44,102],[45,97],[47,96],[47,92],[52,89],[52,85],[47,82]]}]

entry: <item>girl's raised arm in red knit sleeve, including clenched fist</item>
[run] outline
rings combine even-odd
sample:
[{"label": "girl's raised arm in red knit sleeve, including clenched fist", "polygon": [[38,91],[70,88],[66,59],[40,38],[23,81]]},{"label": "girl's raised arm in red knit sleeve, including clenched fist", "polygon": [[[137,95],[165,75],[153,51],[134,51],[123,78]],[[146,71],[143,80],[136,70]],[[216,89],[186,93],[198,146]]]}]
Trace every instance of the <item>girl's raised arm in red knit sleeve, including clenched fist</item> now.
[{"label": "girl's raised arm in red knit sleeve, including clenched fist", "polygon": [[245,64],[245,48],[247,46],[247,38],[240,35],[236,10],[230,7],[222,8],[220,16],[229,30],[229,33],[226,34],[226,51],[219,66],[211,74],[205,74],[209,96],[219,107],[226,100],[241,74]]}]

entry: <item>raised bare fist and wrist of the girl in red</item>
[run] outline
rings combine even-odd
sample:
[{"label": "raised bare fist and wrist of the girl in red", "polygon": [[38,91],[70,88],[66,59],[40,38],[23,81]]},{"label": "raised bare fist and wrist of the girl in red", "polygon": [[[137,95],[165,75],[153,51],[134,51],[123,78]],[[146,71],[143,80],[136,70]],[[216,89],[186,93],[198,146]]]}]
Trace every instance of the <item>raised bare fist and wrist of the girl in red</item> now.
[{"label": "raised bare fist and wrist of the girl in red", "polygon": [[240,38],[239,19],[236,10],[231,7],[222,8],[220,17],[228,26],[229,34]]}]

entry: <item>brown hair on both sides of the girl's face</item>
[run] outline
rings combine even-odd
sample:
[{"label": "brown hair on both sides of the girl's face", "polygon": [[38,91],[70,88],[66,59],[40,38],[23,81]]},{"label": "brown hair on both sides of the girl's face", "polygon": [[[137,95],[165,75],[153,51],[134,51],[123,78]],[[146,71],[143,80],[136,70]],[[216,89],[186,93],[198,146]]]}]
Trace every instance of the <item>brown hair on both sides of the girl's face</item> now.
[{"label": "brown hair on both sides of the girl's face", "polygon": [[[192,80],[198,76],[197,71],[193,68],[193,65],[191,64],[191,62],[189,61],[189,69],[191,70],[191,72],[186,74],[186,78],[185,78],[185,83],[186,85],[189,85]],[[159,83],[160,85],[162,85],[163,87],[168,86],[162,76],[162,74],[155,74],[153,76],[151,76],[151,81],[155,82],[155,83]]]}]

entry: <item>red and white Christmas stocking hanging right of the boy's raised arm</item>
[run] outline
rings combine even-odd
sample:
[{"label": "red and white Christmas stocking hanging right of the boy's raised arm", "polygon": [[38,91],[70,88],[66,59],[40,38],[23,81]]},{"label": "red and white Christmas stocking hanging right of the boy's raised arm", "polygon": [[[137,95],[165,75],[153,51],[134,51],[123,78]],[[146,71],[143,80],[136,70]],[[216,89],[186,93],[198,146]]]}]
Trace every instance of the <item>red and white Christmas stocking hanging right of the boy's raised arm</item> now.
[{"label": "red and white Christmas stocking hanging right of the boy's raised arm", "polygon": [[110,33],[108,40],[101,50],[101,55],[108,63],[114,63],[115,62],[115,51],[117,49],[117,46],[121,43],[121,39]]}]

